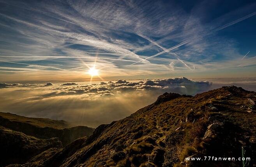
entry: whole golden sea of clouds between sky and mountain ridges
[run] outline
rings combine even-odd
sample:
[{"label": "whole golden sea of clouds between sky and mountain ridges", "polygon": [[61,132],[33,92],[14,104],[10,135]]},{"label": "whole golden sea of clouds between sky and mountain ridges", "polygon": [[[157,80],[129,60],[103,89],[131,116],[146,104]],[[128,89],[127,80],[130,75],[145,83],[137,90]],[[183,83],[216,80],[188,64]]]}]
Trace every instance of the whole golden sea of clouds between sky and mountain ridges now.
[{"label": "whole golden sea of clouds between sky and mountain ridges", "polygon": [[195,95],[209,90],[211,85],[185,77],[94,84],[0,83],[0,111],[97,127],[129,116],[164,92]]}]

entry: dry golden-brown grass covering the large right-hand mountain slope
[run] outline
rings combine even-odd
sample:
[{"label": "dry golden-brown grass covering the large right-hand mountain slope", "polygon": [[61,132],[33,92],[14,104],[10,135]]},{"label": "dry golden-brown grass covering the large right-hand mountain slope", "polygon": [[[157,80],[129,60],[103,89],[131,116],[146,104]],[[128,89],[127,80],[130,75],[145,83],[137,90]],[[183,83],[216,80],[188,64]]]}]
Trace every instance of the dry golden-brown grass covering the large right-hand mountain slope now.
[{"label": "dry golden-brown grass covering the large right-hand mountain slope", "polygon": [[[151,163],[157,165],[157,162],[148,163],[148,157],[156,155],[154,150],[160,148],[165,151],[164,162],[161,162],[163,167],[181,167],[183,164],[181,165],[180,162],[194,154],[198,157],[206,154],[219,156],[227,154],[230,157],[239,154],[240,156],[241,147],[237,144],[238,140],[244,140],[245,132],[248,132],[246,136],[251,137],[250,139],[256,136],[256,113],[247,113],[245,110],[249,107],[247,97],[256,100],[255,95],[256,93],[250,94],[239,88],[228,87],[194,97],[178,97],[148,105],[99,131],[99,135],[92,139],[91,143],[79,149],[79,157],[74,154],[69,159],[74,163],[83,161],[85,166],[95,162],[97,158],[99,162],[97,164],[107,162],[106,166],[145,167],[153,165]],[[210,104],[218,110],[211,110]],[[242,105],[245,107],[241,107]],[[231,124],[225,127],[227,129],[224,135],[215,135],[219,139],[218,144],[215,140],[206,143],[207,141],[202,138],[208,125],[214,121],[230,121]],[[234,124],[244,130],[232,128]],[[240,138],[235,140],[235,135],[240,135]],[[216,147],[222,143],[230,148]],[[88,155],[88,151],[92,150],[95,153]],[[124,151],[124,159],[115,159],[115,162],[112,156],[113,150]],[[215,162],[203,162],[203,165],[194,166],[207,166],[205,165],[207,163]],[[215,164],[215,166],[224,165]]]}]

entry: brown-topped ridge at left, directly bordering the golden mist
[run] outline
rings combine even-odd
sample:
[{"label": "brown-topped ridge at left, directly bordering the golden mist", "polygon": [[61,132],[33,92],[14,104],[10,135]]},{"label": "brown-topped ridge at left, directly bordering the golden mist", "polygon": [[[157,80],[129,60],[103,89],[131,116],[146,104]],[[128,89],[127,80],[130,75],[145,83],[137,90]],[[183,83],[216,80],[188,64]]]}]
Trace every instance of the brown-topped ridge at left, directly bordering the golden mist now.
[{"label": "brown-topped ridge at left, directly bordering the golden mist", "polygon": [[94,131],[94,128],[85,126],[69,127],[66,121],[28,118],[2,112],[0,112],[0,125],[39,139],[58,137],[64,146],[79,137],[89,136]]}]

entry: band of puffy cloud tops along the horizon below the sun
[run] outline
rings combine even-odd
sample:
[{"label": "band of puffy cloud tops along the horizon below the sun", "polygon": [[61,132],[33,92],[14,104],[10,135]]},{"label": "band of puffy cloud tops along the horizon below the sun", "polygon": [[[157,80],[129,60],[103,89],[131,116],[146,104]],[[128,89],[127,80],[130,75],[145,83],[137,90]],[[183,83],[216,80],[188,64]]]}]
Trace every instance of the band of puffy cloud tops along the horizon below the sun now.
[{"label": "band of puffy cloud tops along the horizon below the sun", "polygon": [[[74,95],[74,94],[86,94],[96,93],[96,95],[102,95],[104,93],[115,94],[117,91],[142,91],[142,90],[157,90],[159,93],[165,91],[175,91],[176,93],[194,95],[204,90],[207,90],[212,83],[208,81],[191,81],[185,77],[170,78],[170,79],[144,79],[139,81],[126,81],[117,80],[115,82],[108,81],[100,82],[99,84],[77,84],[77,83],[65,83],[60,86],[53,87],[50,93],[42,95],[42,97],[53,97],[62,95]],[[0,84],[1,85],[1,84]],[[28,86],[30,84],[6,84],[3,86]],[[53,83],[46,83],[43,86],[53,86]],[[41,84],[39,84],[41,86]],[[61,87],[65,86],[65,87]]]}]

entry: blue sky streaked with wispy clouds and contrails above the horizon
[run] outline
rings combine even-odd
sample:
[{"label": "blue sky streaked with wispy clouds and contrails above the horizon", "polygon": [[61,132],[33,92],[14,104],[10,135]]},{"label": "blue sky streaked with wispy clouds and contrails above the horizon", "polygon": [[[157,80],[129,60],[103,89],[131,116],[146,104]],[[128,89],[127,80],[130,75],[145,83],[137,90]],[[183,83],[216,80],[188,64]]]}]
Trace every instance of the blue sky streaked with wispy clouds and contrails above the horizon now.
[{"label": "blue sky streaked with wispy clouds and contrails above the horizon", "polygon": [[[0,80],[256,77],[255,1],[0,0]],[[246,55],[246,56],[245,56]]]}]

